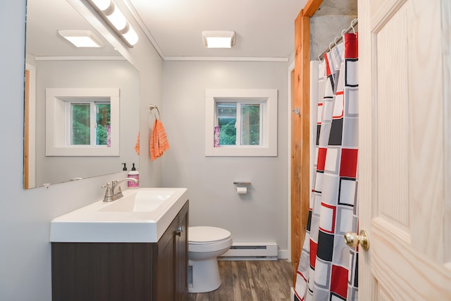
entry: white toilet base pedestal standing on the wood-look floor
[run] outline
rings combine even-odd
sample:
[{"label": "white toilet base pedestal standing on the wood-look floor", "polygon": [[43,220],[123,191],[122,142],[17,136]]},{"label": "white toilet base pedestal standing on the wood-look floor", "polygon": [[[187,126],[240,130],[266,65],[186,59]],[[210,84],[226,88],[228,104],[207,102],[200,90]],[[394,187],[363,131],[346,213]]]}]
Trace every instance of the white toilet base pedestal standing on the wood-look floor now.
[{"label": "white toilet base pedestal standing on the wood-look floor", "polygon": [[207,293],[221,286],[218,260],[215,258],[205,260],[188,260],[189,274],[188,292]]}]

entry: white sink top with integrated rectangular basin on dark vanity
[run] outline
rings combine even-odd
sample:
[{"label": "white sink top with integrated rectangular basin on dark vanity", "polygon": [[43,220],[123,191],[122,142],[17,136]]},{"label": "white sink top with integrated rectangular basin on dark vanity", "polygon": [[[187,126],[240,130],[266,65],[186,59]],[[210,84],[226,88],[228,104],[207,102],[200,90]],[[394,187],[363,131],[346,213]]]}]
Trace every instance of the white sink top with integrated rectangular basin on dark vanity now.
[{"label": "white sink top with integrated rectangular basin on dark vanity", "polygon": [[125,190],[50,223],[50,242],[157,242],[187,202],[186,188]]}]

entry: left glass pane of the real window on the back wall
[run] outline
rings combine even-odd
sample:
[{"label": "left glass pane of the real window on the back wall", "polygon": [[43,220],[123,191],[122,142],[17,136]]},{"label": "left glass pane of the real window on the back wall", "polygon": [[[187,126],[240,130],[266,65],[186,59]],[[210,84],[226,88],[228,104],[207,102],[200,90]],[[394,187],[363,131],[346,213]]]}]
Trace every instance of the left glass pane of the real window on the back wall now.
[{"label": "left glass pane of the real window on the back wall", "polygon": [[218,125],[221,130],[219,145],[236,145],[237,129],[237,104],[231,102],[221,102],[217,105]]}]

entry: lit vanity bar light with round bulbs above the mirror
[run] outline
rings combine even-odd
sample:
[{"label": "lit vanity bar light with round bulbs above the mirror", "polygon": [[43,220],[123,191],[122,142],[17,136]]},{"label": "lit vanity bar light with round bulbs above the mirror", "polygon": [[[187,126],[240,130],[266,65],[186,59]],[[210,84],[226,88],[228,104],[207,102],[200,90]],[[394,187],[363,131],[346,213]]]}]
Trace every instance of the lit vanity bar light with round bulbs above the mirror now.
[{"label": "lit vanity bar light with round bulbs above the mirror", "polygon": [[137,33],[113,1],[88,0],[88,3],[128,47],[131,48],[138,42]]}]

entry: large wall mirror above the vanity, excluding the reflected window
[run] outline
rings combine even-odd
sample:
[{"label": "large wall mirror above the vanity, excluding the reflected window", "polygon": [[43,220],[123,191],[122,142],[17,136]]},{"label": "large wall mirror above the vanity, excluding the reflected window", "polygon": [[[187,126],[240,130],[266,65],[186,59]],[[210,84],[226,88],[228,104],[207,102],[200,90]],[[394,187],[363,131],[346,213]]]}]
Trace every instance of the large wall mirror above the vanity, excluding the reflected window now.
[{"label": "large wall mirror above the vanity, excluding the reflected window", "polygon": [[[103,47],[77,48],[58,30],[89,30]],[[132,164],[138,167],[140,75],[136,68],[66,0],[27,0],[25,43],[24,188],[116,173],[123,170],[123,163],[128,170]],[[46,154],[46,90],[73,88],[119,91],[118,154]]]}]

